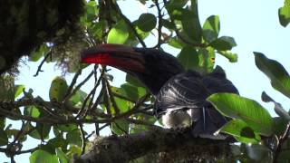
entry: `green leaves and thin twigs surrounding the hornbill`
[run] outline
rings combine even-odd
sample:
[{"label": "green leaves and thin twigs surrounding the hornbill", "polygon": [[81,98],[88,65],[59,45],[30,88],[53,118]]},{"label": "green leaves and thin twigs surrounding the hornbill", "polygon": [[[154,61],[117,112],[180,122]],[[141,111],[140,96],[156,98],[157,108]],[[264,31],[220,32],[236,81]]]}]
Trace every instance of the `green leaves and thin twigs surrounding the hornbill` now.
[{"label": "green leaves and thin twigs surrounding the hornbill", "polygon": [[[86,13],[80,20],[87,46],[121,43],[146,47],[144,40],[153,35],[157,40],[154,48],[160,49],[161,45],[168,44],[179,49],[177,58],[188,70],[201,73],[218,71],[218,66],[215,66],[218,54],[229,62],[237,62],[237,54],[231,52],[237,45],[235,39],[219,35],[218,15],[210,15],[203,25],[200,24],[197,0],[190,3],[189,0],[140,0],[140,3],[156,7],[157,13],[140,13],[139,19],[131,22],[121,13],[115,1],[87,2]],[[280,24],[286,26],[289,23],[289,11],[289,1],[285,0],[285,5],[279,9]],[[29,61],[62,60],[62,55],[52,60],[43,57],[53,48],[53,45],[43,43],[35,48]],[[273,88],[289,98],[289,74],[283,65],[266,58],[263,53],[255,53],[255,61],[257,68],[270,79]],[[99,135],[102,129],[109,128],[112,134],[120,136],[156,127],[159,122],[152,116],[154,98],[140,82],[127,75],[126,83],[113,87],[110,71],[101,65],[94,66],[82,82],[77,82],[84,69],[90,68],[72,64],[69,72],[74,77],[69,84],[63,77],[56,76],[47,89],[50,101],[34,97],[33,90],[25,90],[24,85],[14,85],[13,77],[1,76],[0,87],[4,89],[0,92],[0,151],[10,158],[31,152],[31,162],[43,159],[47,162],[69,162],[74,154],[83,154],[92,134]],[[38,72],[41,69],[36,75]],[[94,83],[92,91],[82,91],[82,86],[89,80]],[[262,98],[275,103],[278,118],[272,118],[258,102],[236,94],[218,93],[208,97],[218,111],[232,118],[219,131],[242,143],[232,146],[235,161],[288,160],[289,150],[285,149],[289,148],[287,124],[290,115],[265,92]],[[6,123],[8,119],[18,120],[22,124],[20,129],[11,129],[11,124]],[[83,129],[86,124],[94,124],[95,131],[90,133]],[[23,150],[27,137],[39,139],[40,144]]]}]

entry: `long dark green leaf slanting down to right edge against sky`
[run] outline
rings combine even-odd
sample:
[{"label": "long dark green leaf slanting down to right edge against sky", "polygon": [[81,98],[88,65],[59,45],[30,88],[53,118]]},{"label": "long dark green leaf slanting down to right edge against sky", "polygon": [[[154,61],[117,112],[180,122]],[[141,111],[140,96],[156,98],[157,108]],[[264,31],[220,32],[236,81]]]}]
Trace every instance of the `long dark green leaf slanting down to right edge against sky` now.
[{"label": "long dark green leaf slanting down to right edge against sky", "polygon": [[263,53],[255,54],[256,67],[270,79],[272,87],[290,98],[290,76],[279,62],[268,59]]}]

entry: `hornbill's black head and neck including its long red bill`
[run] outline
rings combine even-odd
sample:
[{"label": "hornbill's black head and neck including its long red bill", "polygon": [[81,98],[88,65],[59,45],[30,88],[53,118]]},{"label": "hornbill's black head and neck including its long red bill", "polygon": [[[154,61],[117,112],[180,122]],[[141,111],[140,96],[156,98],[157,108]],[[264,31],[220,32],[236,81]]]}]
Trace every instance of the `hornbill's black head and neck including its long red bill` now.
[{"label": "hornbill's black head and neck including its long red bill", "polygon": [[128,72],[155,95],[172,76],[184,72],[179,61],[169,53],[121,44],[101,44],[84,50],[82,62],[110,65]]}]

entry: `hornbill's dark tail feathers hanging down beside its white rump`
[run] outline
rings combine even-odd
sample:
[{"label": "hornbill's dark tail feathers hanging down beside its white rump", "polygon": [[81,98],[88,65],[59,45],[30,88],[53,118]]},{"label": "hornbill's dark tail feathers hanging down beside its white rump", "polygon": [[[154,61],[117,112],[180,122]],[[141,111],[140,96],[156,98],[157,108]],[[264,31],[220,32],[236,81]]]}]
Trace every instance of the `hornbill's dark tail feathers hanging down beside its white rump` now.
[{"label": "hornbill's dark tail feathers hanging down beside its white rump", "polygon": [[208,139],[227,139],[225,135],[215,134],[227,123],[227,118],[212,106],[191,109],[193,123],[192,134],[195,137]]}]

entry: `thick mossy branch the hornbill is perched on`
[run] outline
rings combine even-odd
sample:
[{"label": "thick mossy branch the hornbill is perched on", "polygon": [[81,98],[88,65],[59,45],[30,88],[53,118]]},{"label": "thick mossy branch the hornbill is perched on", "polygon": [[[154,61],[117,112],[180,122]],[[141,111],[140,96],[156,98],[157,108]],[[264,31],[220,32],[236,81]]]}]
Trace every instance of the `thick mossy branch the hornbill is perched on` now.
[{"label": "thick mossy branch the hornbill is perched on", "polygon": [[[93,162],[129,162],[148,154],[160,152],[178,152],[189,158],[215,158],[230,155],[227,141],[193,138],[190,129],[182,131],[172,129],[152,129],[132,135],[96,138],[92,149],[73,163]],[[227,156],[227,157],[228,157]],[[192,160],[192,159],[191,159]]]}]

